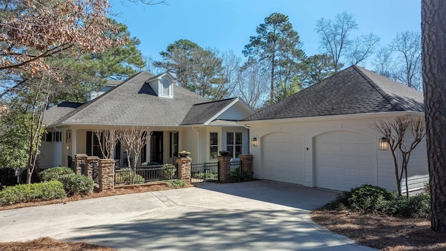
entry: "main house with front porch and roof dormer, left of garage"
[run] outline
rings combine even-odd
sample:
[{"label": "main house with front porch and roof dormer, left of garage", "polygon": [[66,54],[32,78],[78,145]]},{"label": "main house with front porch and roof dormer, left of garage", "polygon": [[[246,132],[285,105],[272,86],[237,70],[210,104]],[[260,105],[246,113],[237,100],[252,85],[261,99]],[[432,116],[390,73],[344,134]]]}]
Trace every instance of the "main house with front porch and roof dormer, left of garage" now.
[{"label": "main house with front porch and roof dormer, left of garage", "polygon": [[[216,161],[222,150],[237,158],[249,153],[249,130],[236,121],[253,112],[240,98],[211,101],[177,86],[170,73],[143,71],[89,102],[48,109],[39,167],[68,166],[78,153],[101,157],[95,131],[129,126],[153,131],[138,164],[174,163],[178,150],[190,151],[193,162]],[[125,165],[125,149],[118,144],[114,151],[119,165]]]}]

